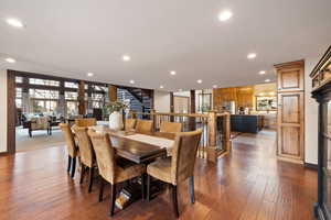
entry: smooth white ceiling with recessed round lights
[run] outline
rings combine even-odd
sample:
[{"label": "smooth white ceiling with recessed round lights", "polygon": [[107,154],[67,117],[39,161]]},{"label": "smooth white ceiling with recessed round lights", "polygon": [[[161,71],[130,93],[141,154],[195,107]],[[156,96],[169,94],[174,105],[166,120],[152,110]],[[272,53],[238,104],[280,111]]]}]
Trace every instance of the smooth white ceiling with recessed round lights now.
[{"label": "smooth white ceiling with recessed round lights", "polygon": [[[234,15],[222,23],[224,9]],[[330,0],[1,0],[0,65],[164,90],[259,84],[275,80],[273,64],[327,50],[330,9]],[[9,16],[26,28],[8,26]]]}]

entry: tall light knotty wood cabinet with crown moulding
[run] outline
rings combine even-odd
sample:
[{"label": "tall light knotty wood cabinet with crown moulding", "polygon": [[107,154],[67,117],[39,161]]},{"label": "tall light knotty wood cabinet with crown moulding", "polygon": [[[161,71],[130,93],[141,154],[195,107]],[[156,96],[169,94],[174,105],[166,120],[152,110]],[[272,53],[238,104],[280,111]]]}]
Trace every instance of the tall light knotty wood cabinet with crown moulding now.
[{"label": "tall light knotty wood cabinet with crown moulding", "polygon": [[278,158],[303,163],[305,156],[305,74],[303,61],[275,65],[277,69]]}]

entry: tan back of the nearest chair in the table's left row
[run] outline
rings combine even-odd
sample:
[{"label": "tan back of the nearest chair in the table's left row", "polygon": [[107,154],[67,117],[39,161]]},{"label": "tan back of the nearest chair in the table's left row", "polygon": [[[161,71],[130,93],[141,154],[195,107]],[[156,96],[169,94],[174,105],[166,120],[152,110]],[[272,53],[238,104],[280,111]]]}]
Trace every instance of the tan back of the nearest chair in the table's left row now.
[{"label": "tan back of the nearest chair in the table's left row", "polygon": [[104,179],[110,184],[115,183],[115,148],[111,146],[109,134],[97,133],[95,130],[89,129],[88,135],[93,143],[99,174]]}]

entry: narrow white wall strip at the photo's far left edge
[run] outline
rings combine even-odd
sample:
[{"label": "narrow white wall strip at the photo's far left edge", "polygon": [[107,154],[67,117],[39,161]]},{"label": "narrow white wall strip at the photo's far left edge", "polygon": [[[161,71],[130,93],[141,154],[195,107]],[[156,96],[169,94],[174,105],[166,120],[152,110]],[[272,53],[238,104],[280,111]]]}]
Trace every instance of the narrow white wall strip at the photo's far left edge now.
[{"label": "narrow white wall strip at the photo's far left edge", "polygon": [[0,69],[0,152],[7,151],[7,70]]}]

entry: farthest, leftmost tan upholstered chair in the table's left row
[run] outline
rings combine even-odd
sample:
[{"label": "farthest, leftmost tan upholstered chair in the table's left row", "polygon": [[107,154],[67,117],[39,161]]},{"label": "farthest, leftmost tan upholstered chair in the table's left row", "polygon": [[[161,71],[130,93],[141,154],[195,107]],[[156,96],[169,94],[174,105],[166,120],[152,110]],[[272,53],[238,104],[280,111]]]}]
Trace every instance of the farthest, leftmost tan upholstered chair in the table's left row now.
[{"label": "farthest, leftmost tan upholstered chair in the table's left row", "polygon": [[72,178],[75,176],[76,169],[76,157],[78,155],[78,147],[76,146],[73,132],[68,123],[60,123],[61,130],[64,133],[66,147],[68,152],[67,173],[72,170]]}]

